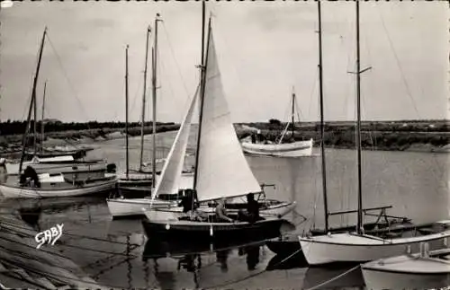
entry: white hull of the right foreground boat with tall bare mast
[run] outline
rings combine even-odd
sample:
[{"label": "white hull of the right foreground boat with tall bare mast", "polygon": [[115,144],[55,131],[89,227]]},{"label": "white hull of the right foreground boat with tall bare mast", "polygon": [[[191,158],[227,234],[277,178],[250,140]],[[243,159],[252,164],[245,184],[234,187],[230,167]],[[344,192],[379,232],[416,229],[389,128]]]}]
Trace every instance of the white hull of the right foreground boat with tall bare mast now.
[{"label": "white hull of the right foreground boat with tall bare mast", "polygon": [[414,238],[384,240],[374,236],[337,233],[320,237],[299,237],[299,241],[306,260],[314,266],[341,262],[366,262],[399,256],[409,247],[412,251],[418,251],[420,242],[439,241],[447,236],[450,236],[448,231]]}]

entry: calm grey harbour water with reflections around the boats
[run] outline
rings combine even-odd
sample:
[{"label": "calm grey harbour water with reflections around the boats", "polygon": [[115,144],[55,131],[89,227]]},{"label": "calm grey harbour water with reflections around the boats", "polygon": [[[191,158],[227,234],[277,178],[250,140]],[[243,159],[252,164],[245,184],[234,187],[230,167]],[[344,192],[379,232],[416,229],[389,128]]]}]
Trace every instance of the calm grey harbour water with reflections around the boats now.
[{"label": "calm grey harbour water with reflections around the boats", "polygon": [[[174,133],[158,136],[157,158],[164,157]],[[150,159],[151,136],[145,154]],[[193,145],[194,136],[191,139]],[[91,154],[123,168],[124,140],[95,143]],[[190,152],[193,152],[191,147]],[[392,206],[391,215],[416,223],[449,217],[448,154],[367,151],[363,153],[364,207]],[[130,164],[139,160],[139,139],[130,140]],[[296,200],[286,217],[296,233],[322,226],[320,156],[288,159],[247,157],[257,179],[275,184],[268,198]],[[186,158],[187,166],[193,156]],[[356,151],[327,150],[329,210],[356,209]],[[3,211],[21,217],[39,230],[64,224],[58,250],[105,286],[120,288],[252,288],[309,289],[349,268],[307,268],[293,257],[283,261],[263,243],[226,249],[193,249],[179,242],[150,244],[139,220],[112,221],[104,198],[64,198],[42,201],[4,201]],[[300,215],[308,217],[302,222]],[[334,216],[330,224],[354,224],[356,215]],[[148,243],[146,248],[146,243]],[[197,247],[198,248],[198,247]],[[360,270],[318,289],[364,289]]]}]

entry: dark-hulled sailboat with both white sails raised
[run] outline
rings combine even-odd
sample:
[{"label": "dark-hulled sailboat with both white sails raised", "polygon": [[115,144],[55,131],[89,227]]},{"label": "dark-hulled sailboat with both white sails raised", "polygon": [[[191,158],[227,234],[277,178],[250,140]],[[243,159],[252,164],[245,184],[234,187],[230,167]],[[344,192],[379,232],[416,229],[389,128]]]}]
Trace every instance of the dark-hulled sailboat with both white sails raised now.
[{"label": "dark-hulled sailboat with both white sails raised", "polygon": [[[202,35],[204,34],[202,33]],[[220,198],[237,198],[248,193],[259,193],[261,192],[260,185],[247,163],[230,119],[228,104],[220,81],[220,70],[211,31],[211,18],[208,25],[206,57],[204,65],[202,64],[201,67],[200,121],[197,153],[195,154],[193,196],[196,194],[197,201],[205,203]],[[197,94],[193,97],[186,117],[192,115],[196,97]],[[187,133],[188,131],[182,127],[177,138],[187,136]],[[183,143],[178,145],[175,139],[171,153],[184,151],[185,145]],[[161,181],[158,182],[153,195],[154,198],[159,192],[165,192],[166,189],[170,190],[168,192],[173,192],[172,189],[176,184],[174,181],[180,175],[181,165],[179,160],[174,160],[174,162],[171,160],[172,158],[169,158],[165,163]],[[202,207],[198,210],[202,211]],[[237,220],[234,223],[220,223],[215,220],[214,215],[207,212],[203,212],[208,216],[206,221],[193,220],[190,216],[173,216],[173,213],[174,211],[170,213],[170,209],[150,208],[146,210],[147,219],[142,221],[142,225],[147,236],[151,237],[157,234],[185,239],[228,240],[235,236],[279,234],[280,227],[284,222],[278,217],[267,217],[255,223]]]}]

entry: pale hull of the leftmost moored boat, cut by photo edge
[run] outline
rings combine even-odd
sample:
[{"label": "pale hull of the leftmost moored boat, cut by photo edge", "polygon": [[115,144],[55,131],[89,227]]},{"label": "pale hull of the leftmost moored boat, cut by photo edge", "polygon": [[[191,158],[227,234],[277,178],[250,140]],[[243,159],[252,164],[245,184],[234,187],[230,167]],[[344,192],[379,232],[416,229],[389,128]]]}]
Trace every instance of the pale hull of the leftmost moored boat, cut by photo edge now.
[{"label": "pale hull of the leftmost moored boat, cut by photo edge", "polygon": [[94,181],[84,186],[72,186],[65,182],[58,186],[48,186],[46,188],[21,188],[19,186],[11,186],[0,184],[0,192],[4,198],[59,198],[59,197],[77,197],[85,196],[114,188],[115,179]]}]

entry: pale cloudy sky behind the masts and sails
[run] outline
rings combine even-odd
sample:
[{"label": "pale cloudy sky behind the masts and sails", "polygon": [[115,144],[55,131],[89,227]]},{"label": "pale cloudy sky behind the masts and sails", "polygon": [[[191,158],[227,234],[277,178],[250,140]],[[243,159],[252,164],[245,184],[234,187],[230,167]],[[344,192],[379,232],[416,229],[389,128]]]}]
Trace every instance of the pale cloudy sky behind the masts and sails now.
[{"label": "pale cloudy sky behind the masts and sails", "polygon": [[[448,4],[360,4],[362,118],[450,119]],[[317,4],[208,2],[220,73],[234,122],[319,114]],[[326,120],[356,118],[356,4],[322,3]],[[180,122],[199,82],[200,2],[15,2],[0,12],[0,119],[25,119],[44,27],[40,80],[45,116],[63,121],[125,119],[125,47],[130,121],[140,119],[145,40],[158,22],[157,120]],[[154,35],[151,36],[153,41]],[[150,67],[150,60],[148,61]],[[148,105],[150,110],[150,73]],[[38,116],[40,116],[40,108]],[[148,116],[146,119],[151,119]]]}]

